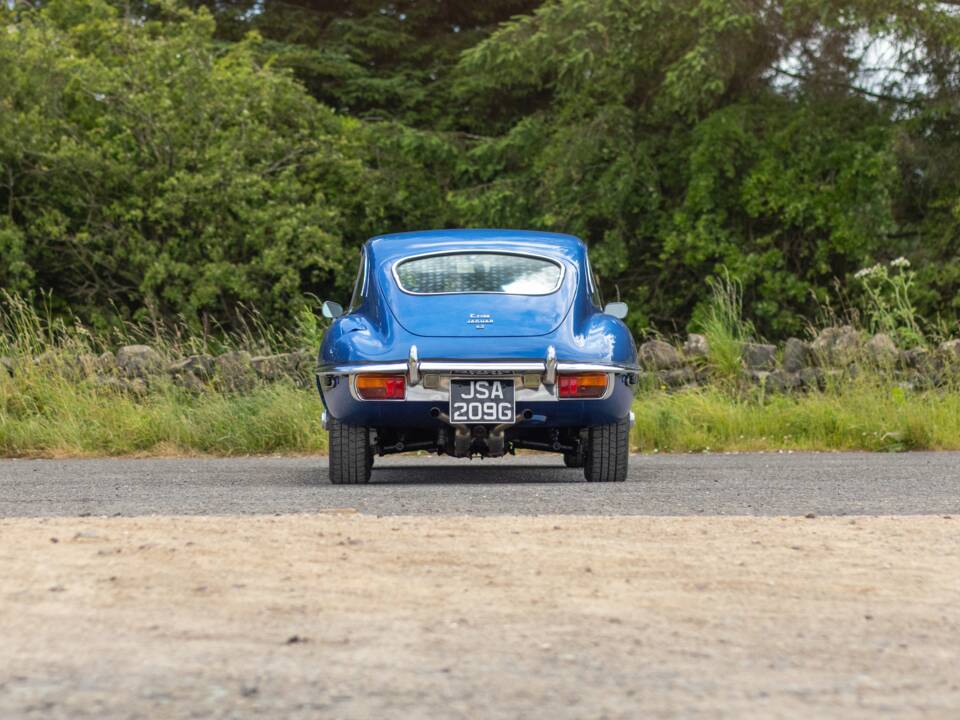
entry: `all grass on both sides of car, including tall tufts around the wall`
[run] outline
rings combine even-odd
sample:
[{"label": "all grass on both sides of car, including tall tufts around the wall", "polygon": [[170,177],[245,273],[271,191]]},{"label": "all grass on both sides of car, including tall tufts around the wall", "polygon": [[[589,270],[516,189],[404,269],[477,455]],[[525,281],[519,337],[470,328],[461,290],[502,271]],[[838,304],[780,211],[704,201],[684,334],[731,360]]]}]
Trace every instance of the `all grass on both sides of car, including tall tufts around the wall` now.
[{"label": "all grass on both sides of car, including tall tufts around the wall", "polygon": [[[634,404],[635,449],[960,450],[957,386],[906,391],[889,376],[867,372],[822,393],[790,396],[737,384],[739,343],[751,328],[739,320],[736,286],[725,288],[718,287],[718,310],[705,328],[718,381],[679,392],[644,389]],[[146,341],[171,360],[189,352],[290,349],[307,336],[316,341],[321,329],[301,325],[299,335],[281,335],[252,324],[242,336],[220,335],[216,345],[183,328],[131,325],[105,335],[0,297],[0,357],[16,364],[13,376],[0,368],[0,456],[325,452],[320,400],[291,381],[242,394],[211,383],[191,393],[162,377],[137,394],[95,377],[69,377],[71,359],[125,343]]]}]

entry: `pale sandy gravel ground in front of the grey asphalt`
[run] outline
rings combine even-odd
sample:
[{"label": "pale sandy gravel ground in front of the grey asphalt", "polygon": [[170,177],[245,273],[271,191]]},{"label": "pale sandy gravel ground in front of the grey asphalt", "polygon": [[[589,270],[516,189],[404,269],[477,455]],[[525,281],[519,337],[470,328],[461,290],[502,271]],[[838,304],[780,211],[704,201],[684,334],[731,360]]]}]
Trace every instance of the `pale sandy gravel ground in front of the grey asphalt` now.
[{"label": "pale sandy gravel ground in front of the grey asphalt", "polygon": [[0,520],[0,717],[957,718],[960,519]]}]

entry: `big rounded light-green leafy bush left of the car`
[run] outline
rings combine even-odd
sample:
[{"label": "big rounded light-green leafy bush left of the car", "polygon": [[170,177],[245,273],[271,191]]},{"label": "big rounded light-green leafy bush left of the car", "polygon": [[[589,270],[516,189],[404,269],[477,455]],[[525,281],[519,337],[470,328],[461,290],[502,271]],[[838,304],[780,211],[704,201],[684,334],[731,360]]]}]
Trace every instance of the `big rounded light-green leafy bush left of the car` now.
[{"label": "big rounded light-green leafy bush left of the car", "polygon": [[[72,0],[0,33],[0,283],[57,312],[289,315],[349,274],[356,124],[209,17]],[[349,258],[349,261],[348,261]],[[345,287],[346,283],[341,283]]]}]

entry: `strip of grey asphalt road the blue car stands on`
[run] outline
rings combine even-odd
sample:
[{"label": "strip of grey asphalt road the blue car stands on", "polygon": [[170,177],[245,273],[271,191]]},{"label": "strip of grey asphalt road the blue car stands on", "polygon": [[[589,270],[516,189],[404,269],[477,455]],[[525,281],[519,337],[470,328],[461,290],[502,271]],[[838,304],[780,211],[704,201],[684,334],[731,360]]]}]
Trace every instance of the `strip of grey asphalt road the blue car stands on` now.
[{"label": "strip of grey asphalt road the blue car stands on", "polygon": [[634,456],[592,484],[559,456],[378,458],[335,486],[325,458],[0,461],[0,516],[960,514],[960,453]]}]

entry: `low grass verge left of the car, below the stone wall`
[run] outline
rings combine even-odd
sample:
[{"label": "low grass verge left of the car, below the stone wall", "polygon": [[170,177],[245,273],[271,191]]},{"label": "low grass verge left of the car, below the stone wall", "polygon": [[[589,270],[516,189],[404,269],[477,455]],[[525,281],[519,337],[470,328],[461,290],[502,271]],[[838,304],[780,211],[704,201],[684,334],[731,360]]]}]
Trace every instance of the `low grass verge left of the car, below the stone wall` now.
[{"label": "low grass verge left of the car, below the stone wall", "polygon": [[0,378],[0,455],[214,455],[326,449],[316,393],[292,383],[234,395],[170,384],[142,397],[50,374]]}]

